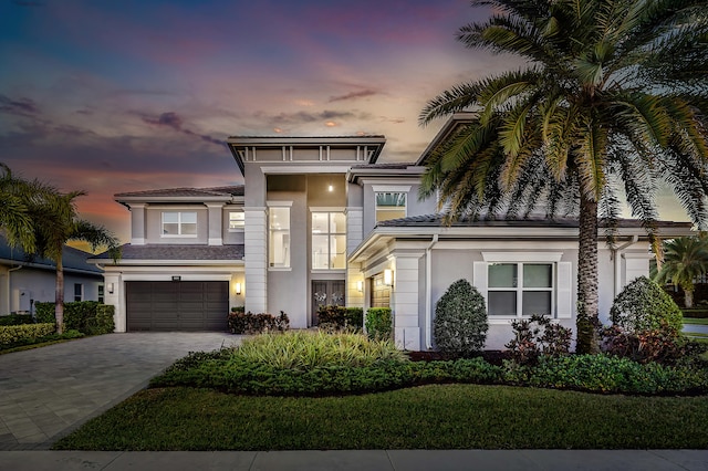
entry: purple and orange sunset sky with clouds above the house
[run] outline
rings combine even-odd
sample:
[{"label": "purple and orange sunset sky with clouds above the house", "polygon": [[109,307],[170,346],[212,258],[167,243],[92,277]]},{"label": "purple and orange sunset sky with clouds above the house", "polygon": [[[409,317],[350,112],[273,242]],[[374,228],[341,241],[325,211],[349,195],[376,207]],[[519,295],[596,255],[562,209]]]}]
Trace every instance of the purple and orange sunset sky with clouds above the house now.
[{"label": "purple and orange sunset sky with clouds above the house", "polygon": [[[467,0],[0,0],[0,161],[85,190],[128,239],[123,191],[241,184],[232,135],[383,134],[412,161],[426,102],[517,67],[455,40]],[[660,201],[664,219],[687,220]]]}]

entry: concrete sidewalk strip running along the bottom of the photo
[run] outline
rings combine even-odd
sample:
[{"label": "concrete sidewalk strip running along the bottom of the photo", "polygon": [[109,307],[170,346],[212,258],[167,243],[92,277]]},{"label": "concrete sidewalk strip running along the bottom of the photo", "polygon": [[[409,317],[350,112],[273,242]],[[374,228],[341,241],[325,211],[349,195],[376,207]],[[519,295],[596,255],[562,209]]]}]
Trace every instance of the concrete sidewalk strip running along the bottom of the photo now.
[{"label": "concrete sidewalk strip running along the bottom of the photo", "polygon": [[0,470],[698,471],[706,450],[1,451]]}]

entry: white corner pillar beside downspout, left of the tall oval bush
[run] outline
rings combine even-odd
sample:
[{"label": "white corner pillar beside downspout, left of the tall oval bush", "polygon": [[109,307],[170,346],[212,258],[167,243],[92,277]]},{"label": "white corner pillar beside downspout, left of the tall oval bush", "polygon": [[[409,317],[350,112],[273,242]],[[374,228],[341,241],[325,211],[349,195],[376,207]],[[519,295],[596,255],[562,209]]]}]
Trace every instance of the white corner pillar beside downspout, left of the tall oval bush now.
[{"label": "white corner pillar beside downspout, left of the tall oval bush", "polygon": [[418,306],[420,253],[394,253],[392,269],[394,285],[391,290],[391,307],[394,316],[394,341],[407,350],[420,349],[420,313]]}]

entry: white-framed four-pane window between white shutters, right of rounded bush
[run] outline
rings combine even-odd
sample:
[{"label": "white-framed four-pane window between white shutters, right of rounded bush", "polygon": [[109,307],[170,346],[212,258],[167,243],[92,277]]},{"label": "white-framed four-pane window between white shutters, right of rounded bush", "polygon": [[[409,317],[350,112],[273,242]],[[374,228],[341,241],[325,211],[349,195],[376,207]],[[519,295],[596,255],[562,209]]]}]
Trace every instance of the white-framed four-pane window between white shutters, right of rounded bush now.
[{"label": "white-framed four-pane window between white shutters, right of rounded bush", "polygon": [[490,263],[487,310],[489,316],[552,315],[553,263]]}]

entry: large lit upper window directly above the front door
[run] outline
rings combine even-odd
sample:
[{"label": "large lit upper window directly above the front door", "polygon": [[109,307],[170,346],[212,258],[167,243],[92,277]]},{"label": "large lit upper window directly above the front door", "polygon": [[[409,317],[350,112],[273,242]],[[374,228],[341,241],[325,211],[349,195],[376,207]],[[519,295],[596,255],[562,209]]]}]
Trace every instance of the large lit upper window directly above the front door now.
[{"label": "large lit upper window directly above the front door", "polygon": [[342,211],[312,213],[312,269],[346,268],[346,216]]}]

